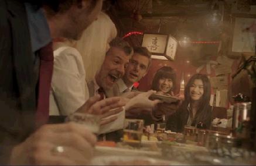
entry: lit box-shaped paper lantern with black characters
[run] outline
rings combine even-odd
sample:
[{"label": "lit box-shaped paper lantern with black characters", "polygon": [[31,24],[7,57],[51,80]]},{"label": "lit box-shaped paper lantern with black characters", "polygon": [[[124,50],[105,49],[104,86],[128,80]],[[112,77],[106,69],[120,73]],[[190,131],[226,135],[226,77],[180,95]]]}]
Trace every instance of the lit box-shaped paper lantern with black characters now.
[{"label": "lit box-shaped paper lantern with black characters", "polygon": [[141,45],[148,48],[152,58],[173,61],[178,41],[168,34],[144,33]]}]

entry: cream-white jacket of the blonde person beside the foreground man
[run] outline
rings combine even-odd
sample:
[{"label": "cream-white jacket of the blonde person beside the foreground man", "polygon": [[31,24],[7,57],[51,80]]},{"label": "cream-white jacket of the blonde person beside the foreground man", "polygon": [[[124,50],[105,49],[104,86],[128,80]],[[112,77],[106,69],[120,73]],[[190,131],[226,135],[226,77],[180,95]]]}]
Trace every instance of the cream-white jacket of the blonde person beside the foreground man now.
[{"label": "cream-white jacket of the blonde person beside the foreground man", "polygon": [[73,47],[54,51],[50,115],[69,115],[88,100],[86,72],[80,53]]}]

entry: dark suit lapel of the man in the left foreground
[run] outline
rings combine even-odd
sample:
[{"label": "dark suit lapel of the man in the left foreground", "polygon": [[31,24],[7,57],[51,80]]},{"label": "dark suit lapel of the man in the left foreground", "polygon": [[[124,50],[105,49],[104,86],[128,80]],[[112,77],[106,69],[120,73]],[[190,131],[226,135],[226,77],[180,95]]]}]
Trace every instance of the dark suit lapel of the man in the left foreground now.
[{"label": "dark suit lapel of the man in the left foreground", "polygon": [[9,17],[9,22],[12,31],[13,63],[21,107],[23,111],[35,111],[36,84],[33,75],[32,48],[25,6],[17,1],[6,2],[12,15]]}]

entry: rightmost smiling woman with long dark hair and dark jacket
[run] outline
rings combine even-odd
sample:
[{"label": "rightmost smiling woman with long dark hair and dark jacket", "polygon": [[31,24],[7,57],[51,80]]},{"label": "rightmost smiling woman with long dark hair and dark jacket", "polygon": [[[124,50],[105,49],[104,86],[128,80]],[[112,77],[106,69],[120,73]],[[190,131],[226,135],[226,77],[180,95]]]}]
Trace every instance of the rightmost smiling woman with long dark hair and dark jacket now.
[{"label": "rightmost smiling woman with long dark hair and dark jacket", "polygon": [[211,124],[211,84],[206,75],[193,75],[185,87],[185,100],[167,121],[166,128],[182,132],[184,126],[210,128]]}]

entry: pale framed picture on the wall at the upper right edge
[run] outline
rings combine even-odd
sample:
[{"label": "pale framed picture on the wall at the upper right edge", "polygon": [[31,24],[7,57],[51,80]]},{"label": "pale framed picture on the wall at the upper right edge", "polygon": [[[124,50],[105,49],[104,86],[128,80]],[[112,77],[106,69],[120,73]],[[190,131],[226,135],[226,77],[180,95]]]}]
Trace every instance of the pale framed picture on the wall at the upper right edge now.
[{"label": "pale framed picture on the wall at the upper right edge", "polygon": [[239,58],[243,52],[255,53],[256,15],[233,14],[233,36],[228,54]]}]

